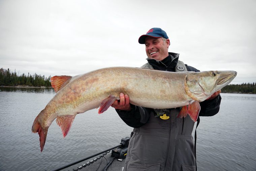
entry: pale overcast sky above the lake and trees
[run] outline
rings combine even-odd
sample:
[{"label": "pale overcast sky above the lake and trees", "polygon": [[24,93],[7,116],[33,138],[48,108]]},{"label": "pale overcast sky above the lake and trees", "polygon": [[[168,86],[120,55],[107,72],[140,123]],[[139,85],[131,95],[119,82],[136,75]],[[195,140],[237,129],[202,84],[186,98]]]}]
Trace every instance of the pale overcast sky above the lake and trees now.
[{"label": "pale overcast sky above the lake and trees", "polygon": [[255,9],[255,0],[0,0],[0,68],[74,76],[140,67],[139,36],[160,27],[184,63],[256,82]]}]

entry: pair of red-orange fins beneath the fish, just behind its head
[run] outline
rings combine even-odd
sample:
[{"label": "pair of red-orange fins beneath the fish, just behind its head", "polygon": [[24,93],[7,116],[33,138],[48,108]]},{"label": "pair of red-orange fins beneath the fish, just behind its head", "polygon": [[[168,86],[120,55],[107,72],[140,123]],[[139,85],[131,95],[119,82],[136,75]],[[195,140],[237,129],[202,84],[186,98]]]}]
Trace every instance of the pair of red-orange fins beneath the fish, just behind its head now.
[{"label": "pair of red-orange fins beneath the fish, just behind its head", "polygon": [[182,118],[182,117],[186,117],[187,115],[190,116],[190,118],[196,122],[197,118],[198,118],[198,115],[199,115],[199,112],[200,112],[200,104],[198,101],[194,101],[193,103],[189,104],[188,106],[183,106],[179,115],[178,115],[178,118]]}]

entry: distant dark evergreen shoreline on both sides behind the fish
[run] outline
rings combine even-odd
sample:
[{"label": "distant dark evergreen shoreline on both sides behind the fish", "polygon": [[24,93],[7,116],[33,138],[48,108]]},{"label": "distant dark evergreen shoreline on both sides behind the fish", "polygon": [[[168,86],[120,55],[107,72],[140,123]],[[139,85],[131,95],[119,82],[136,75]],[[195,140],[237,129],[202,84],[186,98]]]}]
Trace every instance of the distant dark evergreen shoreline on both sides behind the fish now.
[{"label": "distant dark evergreen shoreline on both sides behind the fish", "polygon": [[[36,73],[18,75],[16,71],[10,72],[9,68],[1,68],[0,86],[51,88],[51,76],[45,77]],[[221,89],[221,93],[256,94],[256,83],[229,84]]]}]

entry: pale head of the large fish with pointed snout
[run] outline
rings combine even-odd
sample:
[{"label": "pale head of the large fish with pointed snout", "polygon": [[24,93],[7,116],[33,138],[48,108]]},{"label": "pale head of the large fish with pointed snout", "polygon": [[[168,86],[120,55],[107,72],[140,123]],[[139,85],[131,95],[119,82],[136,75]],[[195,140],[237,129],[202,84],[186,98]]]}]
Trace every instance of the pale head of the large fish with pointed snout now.
[{"label": "pale head of the large fish with pointed snout", "polygon": [[202,102],[227,86],[236,76],[236,71],[189,72],[186,78],[187,94]]}]

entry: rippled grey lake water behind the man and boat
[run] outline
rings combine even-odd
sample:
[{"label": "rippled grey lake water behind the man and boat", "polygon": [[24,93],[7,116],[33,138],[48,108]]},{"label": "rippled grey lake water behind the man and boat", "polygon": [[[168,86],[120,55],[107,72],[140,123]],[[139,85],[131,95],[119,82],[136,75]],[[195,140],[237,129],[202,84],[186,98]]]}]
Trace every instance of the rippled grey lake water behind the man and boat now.
[{"label": "rippled grey lake water behind the man and boat", "polygon": [[[113,108],[100,115],[96,109],[90,110],[75,117],[65,138],[54,121],[41,153],[39,136],[31,132],[31,127],[55,95],[53,89],[0,87],[0,90],[0,170],[59,168],[118,145],[133,129]],[[219,113],[200,118],[198,170],[255,171],[256,95],[222,93],[221,96]],[[69,170],[72,168],[76,167]]]}]

